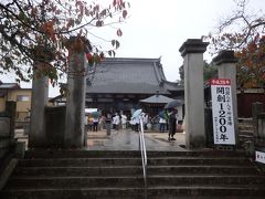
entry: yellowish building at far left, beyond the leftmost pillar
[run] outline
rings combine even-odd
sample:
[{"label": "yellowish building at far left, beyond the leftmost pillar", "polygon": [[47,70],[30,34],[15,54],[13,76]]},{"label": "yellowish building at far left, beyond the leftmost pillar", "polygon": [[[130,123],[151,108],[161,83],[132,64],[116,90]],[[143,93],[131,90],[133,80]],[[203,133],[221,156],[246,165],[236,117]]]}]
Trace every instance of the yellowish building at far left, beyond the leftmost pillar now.
[{"label": "yellowish building at far left, beyond the leftmost pillar", "polygon": [[17,121],[24,121],[31,109],[31,88],[21,88],[17,83],[0,81],[0,112],[4,112],[6,102],[17,102]]}]

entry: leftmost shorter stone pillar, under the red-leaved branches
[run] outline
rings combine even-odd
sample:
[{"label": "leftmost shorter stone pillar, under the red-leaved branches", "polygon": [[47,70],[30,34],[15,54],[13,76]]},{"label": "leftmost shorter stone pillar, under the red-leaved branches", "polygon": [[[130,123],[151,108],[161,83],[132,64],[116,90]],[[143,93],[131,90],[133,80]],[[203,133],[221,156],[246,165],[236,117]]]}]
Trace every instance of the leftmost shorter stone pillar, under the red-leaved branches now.
[{"label": "leftmost shorter stone pillar, under the red-leaved branches", "polygon": [[29,134],[29,147],[38,148],[46,146],[44,108],[49,96],[49,77],[39,74],[43,63],[35,62],[32,80],[31,121]]}]

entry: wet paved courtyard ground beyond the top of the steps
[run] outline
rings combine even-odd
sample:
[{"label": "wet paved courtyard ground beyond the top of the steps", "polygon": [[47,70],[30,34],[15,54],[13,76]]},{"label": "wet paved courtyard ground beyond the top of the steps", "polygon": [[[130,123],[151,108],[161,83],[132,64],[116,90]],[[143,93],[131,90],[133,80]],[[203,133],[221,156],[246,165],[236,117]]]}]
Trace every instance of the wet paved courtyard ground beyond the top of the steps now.
[{"label": "wet paved courtyard ground beyond the top of the steps", "polygon": [[[112,130],[107,135],[106,130],[87,133],[87,150],[138,150],[139,134],[131,129]],[[15,137],[28,145],[28,136],[23,130],[15,130]],[[186,150],[180,147],[184,145],[184,134],[177,133],[177,140],[168,140],[168,133],[146,132],[145,140],[147,150]]]}]

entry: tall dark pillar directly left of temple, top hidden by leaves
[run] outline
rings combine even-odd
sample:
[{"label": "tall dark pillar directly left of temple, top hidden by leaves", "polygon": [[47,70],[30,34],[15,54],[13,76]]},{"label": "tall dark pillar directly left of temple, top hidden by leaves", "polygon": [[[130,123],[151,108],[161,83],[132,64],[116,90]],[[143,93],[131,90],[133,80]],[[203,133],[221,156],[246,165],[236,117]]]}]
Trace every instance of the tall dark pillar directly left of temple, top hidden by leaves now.
[{"label": "tall dark pillar directly left of temple, top hidden by leaves", "polygon": [[84,144],[84,117],[86,92],[86,65],[84,51],[76,51],[74,42],[70,40],[70,65],[67,73],[67,103],[65,118],[64,146],[66,148],[82,147]]}]

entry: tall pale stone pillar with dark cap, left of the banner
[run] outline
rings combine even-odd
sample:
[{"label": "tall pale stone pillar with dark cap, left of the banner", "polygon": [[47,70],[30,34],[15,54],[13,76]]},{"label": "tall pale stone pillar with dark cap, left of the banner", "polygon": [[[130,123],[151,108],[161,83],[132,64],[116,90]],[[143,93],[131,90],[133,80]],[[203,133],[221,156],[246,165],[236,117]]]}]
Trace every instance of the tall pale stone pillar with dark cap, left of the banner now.
[{"label": "tall pale stone pillar with dark cap, left of the banner", "polygon": [[180,48],[184,59],[186,146],[205,147],[203,53],[209,43],[189,39]]}]

